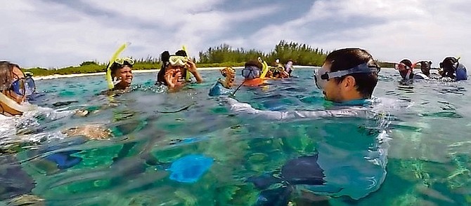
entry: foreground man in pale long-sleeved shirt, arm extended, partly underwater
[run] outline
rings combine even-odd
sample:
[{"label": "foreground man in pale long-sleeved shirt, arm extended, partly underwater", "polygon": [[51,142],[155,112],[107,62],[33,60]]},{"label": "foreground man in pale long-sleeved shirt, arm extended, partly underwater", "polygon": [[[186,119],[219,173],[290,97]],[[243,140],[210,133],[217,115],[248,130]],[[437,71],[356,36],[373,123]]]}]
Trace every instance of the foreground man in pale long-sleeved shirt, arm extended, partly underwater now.
[{"label": "foreground man in pale long-sleeved shirt, arm extended, partly underwater", "polygon": [[[380,67],[366,50],[344,48],[330,53],[321,69],[315,72],[314,81],[323,91],[325,99],[334,102],[337,109],[262,111],[233,98],[223,99],[230,104],[231,111],[238,115],[256,116],[271,121],[358,116],[372,118],[373,112],[365,106],[373,102],[371,97],[378,83],[379,71]],[[358,154],[348,158],[333,155],[337,149],[342,151],[344,148],[319,142],[312,155],[288,160],[281,167],[278,178],[273,177],[277,175],[268,174],[250,177],[247,181],[262,191],[257,205],[287,205],[295,186],[316,194],[335,197],[346,195],[358,200],[378,190],[385,179],[389,146],[386,140],[387,135],[382,132],[370,140],[375,148],[360,146],[361,148],[357,148]],[[344,144],[353,144],[349,139],[342,141]],[[275,184],[283,186],[273,188]]]}]

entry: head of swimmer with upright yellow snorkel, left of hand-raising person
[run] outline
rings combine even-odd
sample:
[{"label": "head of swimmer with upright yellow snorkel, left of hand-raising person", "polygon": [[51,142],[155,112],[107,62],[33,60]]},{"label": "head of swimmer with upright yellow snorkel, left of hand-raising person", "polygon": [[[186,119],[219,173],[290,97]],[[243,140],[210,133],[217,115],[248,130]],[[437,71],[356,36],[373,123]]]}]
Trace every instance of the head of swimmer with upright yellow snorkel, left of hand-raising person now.
[{"label": "head of swimmer with upright yellow snorkel, left of hand-raising person", "polygon": [[115,81],[115,89],[124,90],[129,88],[132,83],[133,74],[132,67],[134,60],[130,57],[117,58],[111,64],[111,77]]}]

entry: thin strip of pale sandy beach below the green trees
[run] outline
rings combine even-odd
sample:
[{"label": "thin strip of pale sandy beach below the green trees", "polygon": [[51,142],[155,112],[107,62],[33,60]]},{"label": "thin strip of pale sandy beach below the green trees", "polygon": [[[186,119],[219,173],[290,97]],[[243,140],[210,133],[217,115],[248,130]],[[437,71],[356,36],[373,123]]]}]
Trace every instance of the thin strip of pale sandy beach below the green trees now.
[{"label": "thin strip of pale sandy beach below the green trees", "polygon": [[[313,66],[301,66],[295,65],[296,67],[302,67],[299,69],[311,69],[314,68]],[[224,69],[226,67],[202,67],[198,68],[199,71],[207,71],[207,70],[219,70]],[[232,67],[233,69],[243,69],[244,67]],[[133,70],[132,73],[149,73],[149,72],[158,72],[160,69],[139,69]],[[96,73],[86,73],[86,74],[53,74],[48,76],[33,76],[34,80],[43,80],[43,79],[53,79],[53,78],[72,78],[72,77],[81,77],[81,76],[98,76],[98,75],[105,75],[106,72],[96,72]]]}]

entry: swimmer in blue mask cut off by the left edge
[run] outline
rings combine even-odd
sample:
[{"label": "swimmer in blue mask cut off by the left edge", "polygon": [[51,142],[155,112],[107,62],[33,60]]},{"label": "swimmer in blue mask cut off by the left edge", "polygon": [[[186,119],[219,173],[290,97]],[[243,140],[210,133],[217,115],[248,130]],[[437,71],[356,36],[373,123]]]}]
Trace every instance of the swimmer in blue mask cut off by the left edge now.
[{"label": "swimmer in blue mask cut off by the left edge", "polygon": [[[46,111],[51,112],[52,109],[37,107],[36,105],[29,104],[26,100],[28,95],[34,91],[34,81],[29,81],[28,77],[23,74],[17,64],[10,62],[0,62],[0,118],[2,121],[2,129],[6,130],[12,128],[16,130],[15,121],[13,118],[22,118],[25,113],[33,111]],[[56,115],[48,114],[51,118],[60,118],[61,115],[75,114],[74,111],[66,111],[65,114],[57,112]],[[8,130],[10,131],[10,130]],[[6,132],[8,132],[6,131]],[[17,135],[16,131],[6,133],[7,136]],[[86,125],[72,130],[65,130],[61,132],[62,136],[72,137],[81,136],[87,139],[103,139],[110,137],[108,130],[103,129],[97,125]],[[13,139],[18,142],[19,139]],[[5,140],[6,141],[6,140]],[[11,142],[2,142],[11,146]],[[13,144],[14,146],[14,144]],[[44,149],[44,151],[51,151],[53,149]],[[15,157],[15,150],[9,148],[1,148],[2,154],[0,156],[0,199],[18,198],[20,196],[30,197],[27,195],[34,188],[34,181],[21,169],[18,160]],[[10,151],[10,152],[9,152]],[[77,158],[70,157],[70,151],[51,153],[46,157],[57,165],[57,167],[70,167],[73,164],[79,163]],[[69,161],[70,160],[70,161]],[[72,165],[71,165],[72,164]],[[13,180],[12,180],[13,178]],[[22,184],[8,184],[8,182],[21,181]],[[35,200],[41,200],[37,198]]]}]

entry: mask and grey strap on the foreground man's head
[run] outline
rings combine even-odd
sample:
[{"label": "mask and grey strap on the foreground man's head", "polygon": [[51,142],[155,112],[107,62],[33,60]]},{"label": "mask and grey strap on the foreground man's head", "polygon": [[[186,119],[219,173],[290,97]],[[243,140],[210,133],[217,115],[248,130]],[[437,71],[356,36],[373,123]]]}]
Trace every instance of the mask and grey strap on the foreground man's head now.
[{"label": "mask and grey strap on the foreground man's head", "polygon": [[338,78],[349,74],[371,74],[375,72],[379,73],[380,68],[373,65],[368,66],[368,63],[363,63],[347,70],[334,72],[325,71],[325,69],[321,67],[321,69],[314,70],[314,81],[316,82],[317,88],[319,88],[319,90],[323,90],[323,88],[325,88],[325,84],[331,78]]}]

